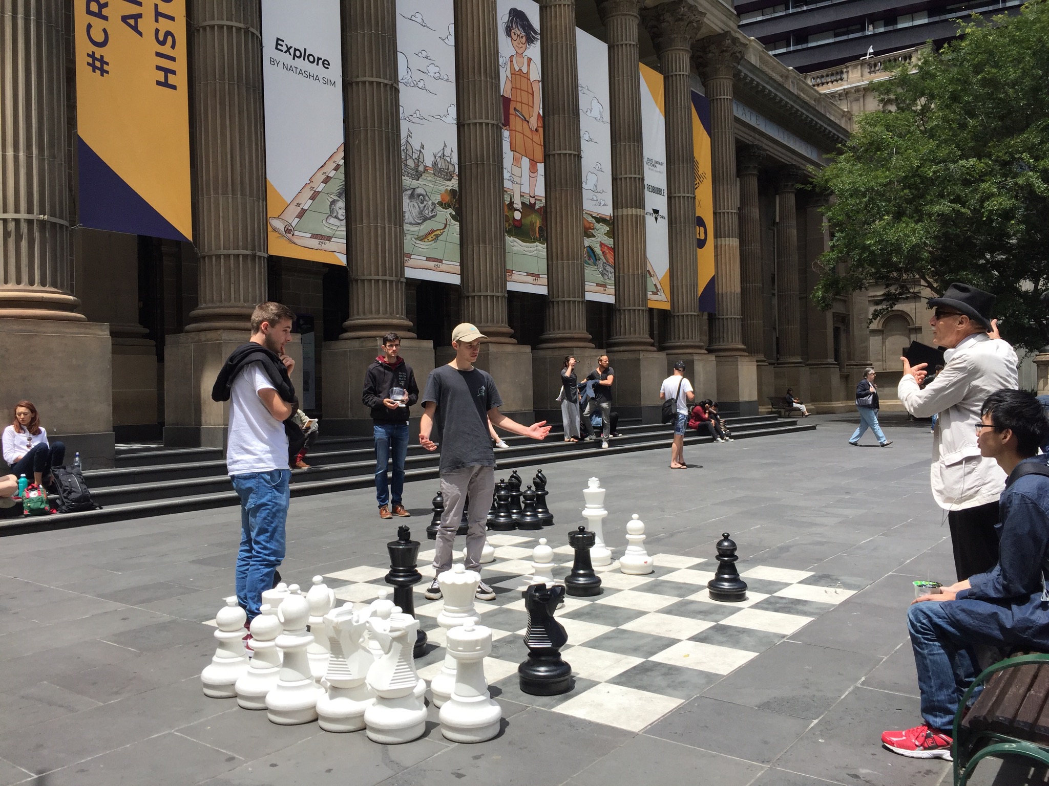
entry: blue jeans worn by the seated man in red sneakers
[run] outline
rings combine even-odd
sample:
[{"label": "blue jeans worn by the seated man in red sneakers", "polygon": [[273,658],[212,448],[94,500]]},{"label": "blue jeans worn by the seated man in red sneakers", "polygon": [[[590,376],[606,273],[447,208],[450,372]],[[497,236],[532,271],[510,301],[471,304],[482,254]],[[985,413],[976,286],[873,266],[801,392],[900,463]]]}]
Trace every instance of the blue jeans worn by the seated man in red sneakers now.
[{"label": "blue jeans worn by the seated man in red sneakers", "polygon": [[[921,715],[929,728],[950,734],[958,702],[976,678],[972,631],[947,613],[951,602],[926,601],[907,610],[907,630],[918,668]],[[973,699],[976,696],[973,696]]]}]

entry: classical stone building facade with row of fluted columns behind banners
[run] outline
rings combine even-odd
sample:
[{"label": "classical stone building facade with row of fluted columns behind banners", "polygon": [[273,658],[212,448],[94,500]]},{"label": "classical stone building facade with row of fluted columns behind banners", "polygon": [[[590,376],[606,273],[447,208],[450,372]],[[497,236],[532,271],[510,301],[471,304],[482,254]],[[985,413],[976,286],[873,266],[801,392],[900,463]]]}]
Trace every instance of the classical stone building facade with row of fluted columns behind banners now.
[{"label": "classical stone building facade with row of fluted columns behind banners", "polygon": [[[547,134],[547,296],[507,291],[495,0],[455,0],[461,285],[406,279],[395,0],[345,0],[348,263],[269,256],[258,0],[188,3],[192,243],[78,225],[71,2],[0,7],[0,412],[28,398],[86,463],[114,442],[220,445],[210,391],[253,306],[300,315],[296,381],[327,434],[370,433],[360,401],[378,336],[395,330],[422,380],[459,321],[490,339],[478,365],[504,410],[553,417],[565,354],[607,352],[623,418],[658,419],[678,359],[698,393],[755,413],[790,386],[851,408],[870,361],[866,293],[816,309],[826,249],[809,172],[852,115],[741,35],[713,0],[539,0]],[[575,28],[608,45],[614,304],[584,299]],[[361,43],[366,45],[360,45]],[[638,65],[663,75],[671,307],[647,307]],[[716,311],[698,310],[690,89],[710,102]]]}]

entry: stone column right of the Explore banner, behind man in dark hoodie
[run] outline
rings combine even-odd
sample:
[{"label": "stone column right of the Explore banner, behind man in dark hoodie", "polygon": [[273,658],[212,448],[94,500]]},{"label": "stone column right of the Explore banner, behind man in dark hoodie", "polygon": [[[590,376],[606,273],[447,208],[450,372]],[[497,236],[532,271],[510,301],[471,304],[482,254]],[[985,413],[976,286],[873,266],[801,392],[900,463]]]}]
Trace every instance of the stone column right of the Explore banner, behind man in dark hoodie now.
[{"label": "stone column right of the Explore banner, behind man in dark hoodie", "polygon": [[349,319],[337,341],[323,343],[317,376],[325,433],[346,435],[370,434],[361,384],[381,336],[401,336],[421,386],[433,344],[415,339],[405,315],[397,3],[343,0],[342,20]]}]

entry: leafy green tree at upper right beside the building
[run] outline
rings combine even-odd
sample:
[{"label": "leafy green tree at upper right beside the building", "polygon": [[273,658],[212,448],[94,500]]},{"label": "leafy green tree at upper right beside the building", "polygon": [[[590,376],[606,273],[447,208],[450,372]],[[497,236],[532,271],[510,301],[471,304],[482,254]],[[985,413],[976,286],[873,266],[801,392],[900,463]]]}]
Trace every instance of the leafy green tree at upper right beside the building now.
[{"label": "leafy green tree at upper right beside the building", "polygon": [[1049,344],[1049,2],[893,70],[883,111],[815,175],[836,199],[814,300],[883,284],[880,315],[962,281],[998,296],[1003,337]]}]

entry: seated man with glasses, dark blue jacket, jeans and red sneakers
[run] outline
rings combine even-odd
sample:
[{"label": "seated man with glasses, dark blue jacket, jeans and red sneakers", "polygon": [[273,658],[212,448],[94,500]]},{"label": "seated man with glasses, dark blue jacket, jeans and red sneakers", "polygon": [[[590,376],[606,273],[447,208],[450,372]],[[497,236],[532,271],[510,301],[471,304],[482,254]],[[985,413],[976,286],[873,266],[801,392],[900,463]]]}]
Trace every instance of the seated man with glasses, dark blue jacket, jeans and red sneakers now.
[{"label": "seated man with glasses, dark blue jacket, jeans and red sneakers", "polygon": [[[907,612],[918,667],[923,723],[885,732],[882,744],[914,759],[950,760],[951,727],[958,702],[972,683],[973,649],[1049,652],[1049,594],[1044,566],[1049,560],[1049,478],[1025,464],[1049,438],[1041,402],[1025,391],[1000,390],[984,401],[980,453],[1009,476],[1001,497],[998,564],[986,573],[919,597]],[[985,663],[984,665],[989,665]]]}]

